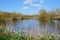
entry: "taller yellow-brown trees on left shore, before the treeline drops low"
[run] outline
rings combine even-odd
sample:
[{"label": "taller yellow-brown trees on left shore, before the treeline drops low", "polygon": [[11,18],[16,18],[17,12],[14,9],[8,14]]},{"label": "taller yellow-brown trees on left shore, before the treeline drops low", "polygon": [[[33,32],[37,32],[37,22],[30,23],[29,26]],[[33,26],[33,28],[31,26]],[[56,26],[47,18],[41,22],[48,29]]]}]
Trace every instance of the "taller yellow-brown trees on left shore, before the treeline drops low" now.
[{"label": "taller yellow-brown trees on left shore, before the treeline drops low", "polygon": [[16,13],[16,12],[3,12],[0,11],[0,20],[5,20],[5,19],[21,19],[23,15],[21,13]]}]

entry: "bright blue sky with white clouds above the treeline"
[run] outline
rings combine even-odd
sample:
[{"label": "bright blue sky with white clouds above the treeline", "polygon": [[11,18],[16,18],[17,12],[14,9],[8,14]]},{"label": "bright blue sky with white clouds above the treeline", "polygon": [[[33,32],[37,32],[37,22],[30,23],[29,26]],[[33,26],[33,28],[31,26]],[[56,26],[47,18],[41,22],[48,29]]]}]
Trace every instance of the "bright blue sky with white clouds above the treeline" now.
[{"label": "bright blue sky with white clouds above the treeline", "polygon": [[60,8],[60,0],[0,0],[0,11],[38,14],[41,9]]}]

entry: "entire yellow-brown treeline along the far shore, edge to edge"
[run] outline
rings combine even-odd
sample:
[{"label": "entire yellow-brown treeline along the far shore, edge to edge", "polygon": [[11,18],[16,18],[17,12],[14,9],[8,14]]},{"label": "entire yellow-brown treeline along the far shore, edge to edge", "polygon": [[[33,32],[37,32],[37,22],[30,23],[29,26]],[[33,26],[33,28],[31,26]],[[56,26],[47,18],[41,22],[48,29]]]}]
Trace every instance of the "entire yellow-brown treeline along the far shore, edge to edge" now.
[{"label": "entire yellow-brown treeline along the far shore, edge to edge", "polygon": [[0,20],[5,19],[16,20],[16,19],[29,19],[29,18],[60,20],[60,9],[55,9],[51,11],[41,9],[38,15],[23,15],[22,13],[0,11]]}]

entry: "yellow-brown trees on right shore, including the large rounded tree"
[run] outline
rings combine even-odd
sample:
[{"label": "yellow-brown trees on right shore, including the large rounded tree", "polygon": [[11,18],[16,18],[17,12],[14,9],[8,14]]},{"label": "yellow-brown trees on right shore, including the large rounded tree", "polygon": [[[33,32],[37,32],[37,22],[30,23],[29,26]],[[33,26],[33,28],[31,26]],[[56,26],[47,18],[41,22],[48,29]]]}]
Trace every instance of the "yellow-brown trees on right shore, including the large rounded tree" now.
[{"label": "yellow-brown trees on right shore, including the large rounded tree", "polygon": [[46,11],[44,9],[40,10],[39,12],[39,18],[40,19],[56,19],[60,20],[60,9],[54,9],[51,11]]}]

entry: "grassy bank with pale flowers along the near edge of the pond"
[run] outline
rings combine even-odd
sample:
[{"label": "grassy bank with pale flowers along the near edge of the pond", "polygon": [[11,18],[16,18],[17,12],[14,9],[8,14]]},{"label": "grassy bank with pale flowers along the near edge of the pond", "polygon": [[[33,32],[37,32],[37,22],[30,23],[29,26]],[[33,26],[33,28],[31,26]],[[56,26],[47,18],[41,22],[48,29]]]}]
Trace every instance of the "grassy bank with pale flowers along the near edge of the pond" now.
[{"label": "grassy bank with pale flowers along the near edge of the pond", "polygon": [[25,35],[20,31],[8,31],[0,28],[0,40],[58,40],[54,34],[40,34],[38,38],[31,35]]}]

